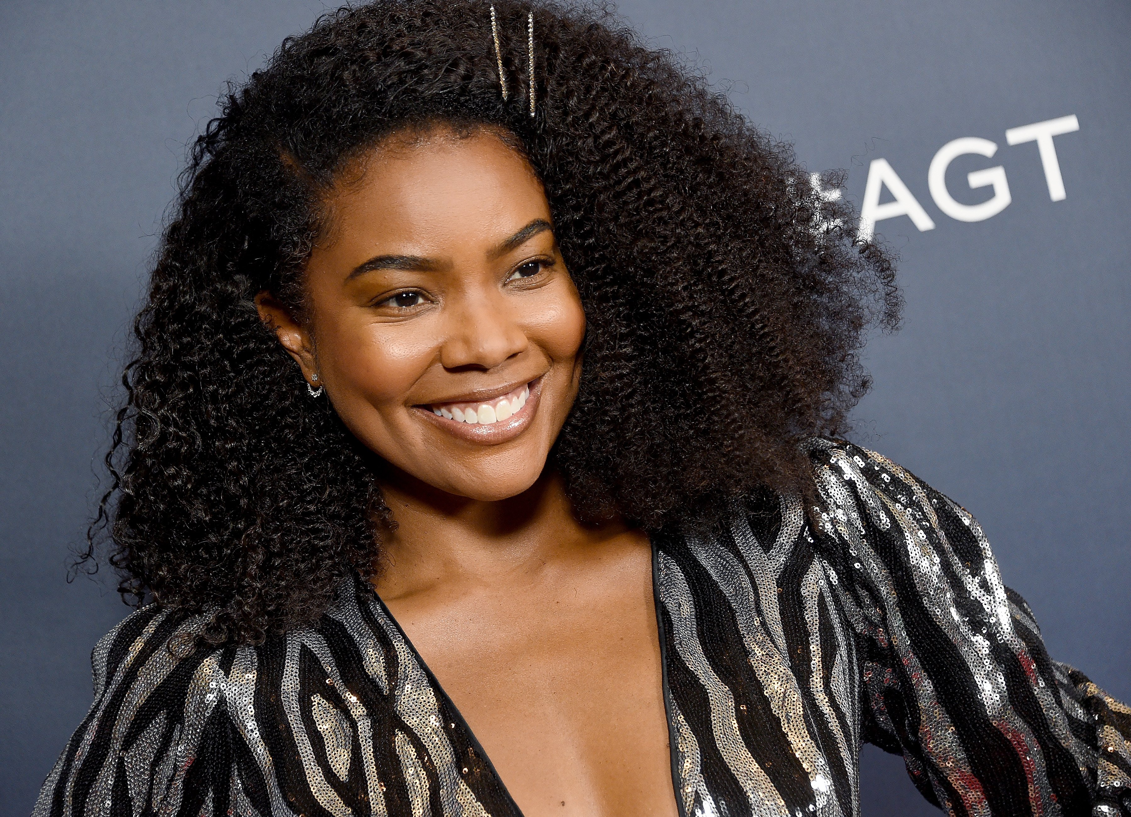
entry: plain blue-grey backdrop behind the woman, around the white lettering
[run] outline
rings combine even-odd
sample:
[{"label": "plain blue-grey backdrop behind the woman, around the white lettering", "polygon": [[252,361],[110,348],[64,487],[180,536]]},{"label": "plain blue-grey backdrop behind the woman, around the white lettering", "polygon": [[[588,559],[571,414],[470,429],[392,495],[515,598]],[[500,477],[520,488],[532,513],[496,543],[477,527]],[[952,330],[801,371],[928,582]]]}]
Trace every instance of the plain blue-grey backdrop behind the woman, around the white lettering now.
[{"label": "plain blue-grey backdrop behind the woman, around the white lettering", "polygon": [[[90,703],[90,647],[126,612],[106,577],[67,584],[66,562],[94,501],[106,398],[184,145],[225,79],[254,70],[322,8],[0,3],[3,814],[31,809]],[[811,170],[849,169],[845,196],[861,204],[884,160],[906,186],[904,209],[914,197],[921,225],[934,223],[877,224],[901,256],[907,312],[901,333],[870,347],[877,385],[856,439],[970,509],[1052,655],[1131,699],[1131,5],[623,0],[621,10],[655,45],[728,83]],[[1064,186],[1054,201],[1037,144],[1009,146],[1005,131],[1070,115],[1079,129],[1053,139]],[[1012,203],[990,218],[946,215],[929,188],[932,157],[960,137],[998,146],[943,174],[950,196],[974,205],[999,194],[972,190],[967,173],[1004,167]],[[935,812],[898,758],[865,750],[863,775],[865,815]]]}]

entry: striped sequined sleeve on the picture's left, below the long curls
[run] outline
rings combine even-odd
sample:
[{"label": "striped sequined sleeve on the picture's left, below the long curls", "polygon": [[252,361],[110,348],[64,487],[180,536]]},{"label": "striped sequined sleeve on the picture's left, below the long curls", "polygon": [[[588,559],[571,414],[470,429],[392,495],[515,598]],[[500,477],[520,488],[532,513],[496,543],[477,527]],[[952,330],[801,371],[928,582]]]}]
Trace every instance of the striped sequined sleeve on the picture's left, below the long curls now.
[{"label": "striped sequined sleeve on the picture's left, below the long curls", "polygon": [[94,703],[33,817],[269,814],[238,774],[242,741],[217,705],[226,651],[197,645],[201,625],[150,605],[98,642]]}]

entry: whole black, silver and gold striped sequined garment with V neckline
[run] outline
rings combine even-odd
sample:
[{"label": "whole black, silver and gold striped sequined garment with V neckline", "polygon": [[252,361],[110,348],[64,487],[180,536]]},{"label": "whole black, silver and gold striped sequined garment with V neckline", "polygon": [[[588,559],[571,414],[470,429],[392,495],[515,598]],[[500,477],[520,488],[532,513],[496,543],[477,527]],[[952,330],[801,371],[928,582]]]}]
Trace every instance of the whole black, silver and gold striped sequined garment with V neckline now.
[{"label": "whole black, silver and gold striped sequined garment with V neckline", "polygon": [[[855,816],[862,741],[951,815],[1131,816],[1131,710],[1048,657],[974,518],[854,445],[810,455],[815,526],[782,497],[653,538],[683,817]],[[202,624],[148,607],[98,643],[35,817],[519,815],[368,584],[259,646],[169,648]]]}]

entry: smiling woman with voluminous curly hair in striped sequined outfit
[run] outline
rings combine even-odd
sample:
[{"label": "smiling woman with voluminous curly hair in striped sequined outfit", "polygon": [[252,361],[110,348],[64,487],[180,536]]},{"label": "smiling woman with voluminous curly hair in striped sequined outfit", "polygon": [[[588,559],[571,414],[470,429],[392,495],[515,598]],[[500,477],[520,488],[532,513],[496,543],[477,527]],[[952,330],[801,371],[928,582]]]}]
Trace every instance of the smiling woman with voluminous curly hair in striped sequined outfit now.
[{"label": "smiling woman with voluminous curly hair in striped sequined outfit", "polygon": [[1131,712],[834,436],[881,249],[602,15],[342,10],[196,144],[36,815],[1131,815]]}]

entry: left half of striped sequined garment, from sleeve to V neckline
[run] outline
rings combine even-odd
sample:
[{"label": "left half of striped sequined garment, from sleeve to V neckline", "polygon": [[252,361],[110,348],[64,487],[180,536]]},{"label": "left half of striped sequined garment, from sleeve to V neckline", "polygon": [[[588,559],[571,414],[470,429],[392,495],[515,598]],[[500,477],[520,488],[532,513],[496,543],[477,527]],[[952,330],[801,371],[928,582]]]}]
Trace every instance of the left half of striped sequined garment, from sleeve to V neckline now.
[{"label": "left half of striped sequined garment, from sleeve to V neckline", "polygon": [[476,799],[508,811],[363,579],[344,578],[314,625],[259,644],[201,644],[209,618],[146,608],[98,643],[94,705],[35,817],[418,814],[430,786],[452,812]]}]

